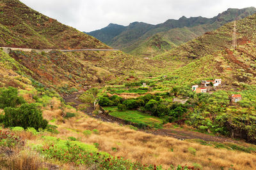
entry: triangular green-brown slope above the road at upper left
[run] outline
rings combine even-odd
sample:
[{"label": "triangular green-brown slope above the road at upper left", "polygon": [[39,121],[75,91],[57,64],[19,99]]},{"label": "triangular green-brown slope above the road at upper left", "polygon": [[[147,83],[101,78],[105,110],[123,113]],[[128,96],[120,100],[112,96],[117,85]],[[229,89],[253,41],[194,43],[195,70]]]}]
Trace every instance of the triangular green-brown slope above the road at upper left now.
[{"label": "triangular green-brown slope above the road at upper left", "polygon": [[1,0],[0,11],[0,46],[109,48],[92,36],[46,17],[18,0]]}]

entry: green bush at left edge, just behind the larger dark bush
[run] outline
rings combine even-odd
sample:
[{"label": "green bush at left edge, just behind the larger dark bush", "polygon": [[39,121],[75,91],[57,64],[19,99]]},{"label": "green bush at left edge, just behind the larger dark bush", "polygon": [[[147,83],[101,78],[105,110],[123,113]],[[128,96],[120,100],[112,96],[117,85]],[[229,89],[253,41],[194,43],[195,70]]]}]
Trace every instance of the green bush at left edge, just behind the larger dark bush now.
[{"label": "green bush at left edge, just behind the larger dark bush", "polygon": [[15,108],[17,105],[26,103],[23,97],[18,96],[18,90],[14,87],[0,88],[0,108]]}]

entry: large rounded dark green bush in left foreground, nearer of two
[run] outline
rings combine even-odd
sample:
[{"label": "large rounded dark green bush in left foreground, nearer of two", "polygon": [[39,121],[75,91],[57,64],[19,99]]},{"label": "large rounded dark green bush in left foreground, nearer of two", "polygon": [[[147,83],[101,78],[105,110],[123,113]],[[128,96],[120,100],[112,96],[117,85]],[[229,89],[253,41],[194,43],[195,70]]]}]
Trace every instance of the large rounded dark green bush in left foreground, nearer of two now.
[{"label": "large rounded dark green bush in left foreground, nearer of two", "polygon": [[20,126],[24,129],[34,127],[45,129],[47,120],[42,117],[42,111],[36,107],[36,104],[22,104],[20,108],[4,108],[4,126]]}]

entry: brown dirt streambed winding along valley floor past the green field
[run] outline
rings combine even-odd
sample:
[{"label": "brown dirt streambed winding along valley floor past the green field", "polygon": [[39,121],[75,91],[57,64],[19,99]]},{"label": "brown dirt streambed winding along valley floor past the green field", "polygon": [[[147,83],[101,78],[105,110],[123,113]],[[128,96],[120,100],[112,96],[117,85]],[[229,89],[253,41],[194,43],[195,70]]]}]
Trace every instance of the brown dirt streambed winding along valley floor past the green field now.
[{"label": "brown dirt streambed winding along valley floor past the green field", "polygon": [[[76,93],[76,94],[71,94],[69,96],[64,96],[63,99],[65,100],[66,103],[72,103],[72,106],[74,106],[75,108],[77,108],[77,106],[79,106],[79,104],[84,104],[81,103],[78,100],[78,97],[81,93]],[[122,125],[134,125],[131,122],[128,122],[126,120],[122,120],[121,118],[116,118],[113,117],[111,115],[108,114],[97,114],[97,115],[93,115],[92,111],[93,111],[93,107],[88,108],[89,110],[87,110],[86,112],[84,111],[84,113],[90,115],[91,117],[97,118],[99,120],[102,120],[103,122],[111,122],[111,123],[117,123],[117,124],[122,124]],[[89,113],[90,112],[90,113]],[[163,129],[147,129],[147,130],[143,130],[140,129],[140,131],[143,132],[147,132],[150,134],[155,134],[160,135],[160,136],[169,136],[172,138],[176,138],[176,139],[180,139],[180,140],[184,140],[184,139],[202,139],[204,141],[213,141],[213,142],[218,142],[218,143],[237,143],[238,141],[236,141],[235,139],[232,138],[227,138],[225,136],[213,136],[210,134],[204,134],[201,132],[195,132],[195,131],[191,131],[191,129],[180,129],[180,128],[163,128]]]}]

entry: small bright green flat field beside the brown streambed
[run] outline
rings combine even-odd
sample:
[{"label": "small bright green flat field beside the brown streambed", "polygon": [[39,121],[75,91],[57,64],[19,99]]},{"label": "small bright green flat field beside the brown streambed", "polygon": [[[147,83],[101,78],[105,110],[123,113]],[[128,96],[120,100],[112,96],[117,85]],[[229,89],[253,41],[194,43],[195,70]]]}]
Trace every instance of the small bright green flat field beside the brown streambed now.
[{"label": "small bright green flat field beside the brown streambed", "polygon": [[118,111],[117,107],[105,107],[104,110],[111,111],[109,115],[117,118],[122,118],[135,124],[146,124],[150,127],[161,127],[163,120],[158,117],[141,113],[137,110]]}]

